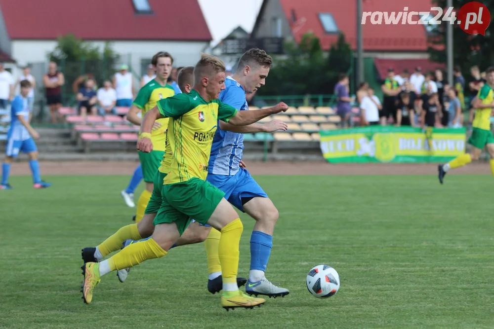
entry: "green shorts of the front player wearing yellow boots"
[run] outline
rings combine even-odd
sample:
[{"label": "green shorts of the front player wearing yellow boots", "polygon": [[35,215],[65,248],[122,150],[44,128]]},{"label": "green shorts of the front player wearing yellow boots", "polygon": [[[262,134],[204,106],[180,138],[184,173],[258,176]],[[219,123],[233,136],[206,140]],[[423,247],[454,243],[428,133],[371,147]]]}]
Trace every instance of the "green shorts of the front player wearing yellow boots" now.
[{"label": "green shorts of the front player wearing yellow boots", "polygon": [[154,224],[175,222],[182,235],[191,218],[206,224],[225,193],[211,183],[194,177],[184,183],[163,185],[161,195],[163,202]]}]

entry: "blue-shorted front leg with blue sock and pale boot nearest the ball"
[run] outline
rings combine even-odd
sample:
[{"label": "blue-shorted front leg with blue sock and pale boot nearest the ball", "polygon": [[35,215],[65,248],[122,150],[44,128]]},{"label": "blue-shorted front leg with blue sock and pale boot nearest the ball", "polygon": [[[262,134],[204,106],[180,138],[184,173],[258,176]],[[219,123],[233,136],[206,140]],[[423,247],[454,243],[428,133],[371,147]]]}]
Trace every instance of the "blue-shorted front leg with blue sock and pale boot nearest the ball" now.
[{"label": "blue-shorted front leg with blue sock and pale boot nearest the ball", "polygon": [[247,170],[241,168],[235,177],[237,185],[228,201],[256,221],[250,236],[250,271],[246,292],[269,297],[285,296],[289,293],[288,289],[273,285],[265,277],[278,210]]}]

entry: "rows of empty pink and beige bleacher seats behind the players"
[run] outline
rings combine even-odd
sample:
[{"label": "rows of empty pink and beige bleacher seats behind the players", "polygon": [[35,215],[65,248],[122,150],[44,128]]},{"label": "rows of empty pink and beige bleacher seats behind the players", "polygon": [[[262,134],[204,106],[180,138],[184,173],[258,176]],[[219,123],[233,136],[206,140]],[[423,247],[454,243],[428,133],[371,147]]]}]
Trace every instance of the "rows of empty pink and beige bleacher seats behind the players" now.
[{"label": "rows of empty pink and beige bleacher seats behind the players", "polygon": [[[250,110],[259,108],[251,106]],[[60,113],[65,116],[65,122],[72,127],[72,138],[86,152],[97,143],[127,143],[136,142],[139,127],[131,124],[125,118],[128,108],[117,108],[119,115],[88,115],[82,118],[72,108],[62,108]],[[358,109],[354,111],[358,112]],[[245,134],[247,142],[319,142],[320,130],[338,129],[341,119],[330,107],[290,107],[286,112],[264,118],[260,122],[278,119],[288,124],[288,131],[275,134],[255,133]]]}]

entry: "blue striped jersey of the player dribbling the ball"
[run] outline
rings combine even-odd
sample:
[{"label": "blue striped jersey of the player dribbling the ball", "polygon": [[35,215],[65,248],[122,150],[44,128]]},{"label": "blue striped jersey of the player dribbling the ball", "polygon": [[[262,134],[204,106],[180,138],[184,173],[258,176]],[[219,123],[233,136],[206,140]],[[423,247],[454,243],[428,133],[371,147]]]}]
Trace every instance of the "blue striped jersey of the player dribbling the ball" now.
[{"label": "blue striped jersey of the player dribbling the ball", "polygon": [[[246,91],[231,76],[225,81],[225,90],[219,95],[219,100],[237,110],[248,110]],[[239,163],[244,151],[244,134],[216,130],[209,157],[209,174],[232,176],[239,171]]]}]

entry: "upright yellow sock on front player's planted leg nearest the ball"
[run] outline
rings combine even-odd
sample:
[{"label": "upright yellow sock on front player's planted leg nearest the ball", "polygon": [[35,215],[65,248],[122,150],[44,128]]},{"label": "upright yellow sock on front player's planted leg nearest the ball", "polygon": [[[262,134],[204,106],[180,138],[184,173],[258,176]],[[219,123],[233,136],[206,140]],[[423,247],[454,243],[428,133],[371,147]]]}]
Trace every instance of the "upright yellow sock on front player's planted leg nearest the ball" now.
[{"label": "upright yellow sock on front player's planted leg nearest the ball", "polygon": [[[240,218],[235,219],[221,230],[221,238],[218,245],[218,256],[221,263],[223,284],[237,285],[237,272],[239,270],[239,245],[244,226]],[[224,286],[223,286],[224,287]],[[238,290],[235,289],[234,291]]]}]

